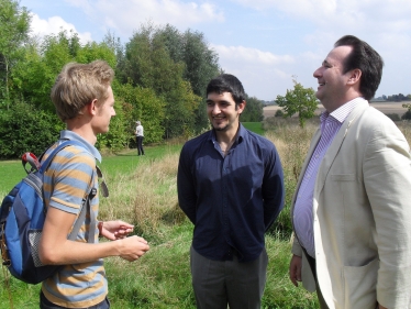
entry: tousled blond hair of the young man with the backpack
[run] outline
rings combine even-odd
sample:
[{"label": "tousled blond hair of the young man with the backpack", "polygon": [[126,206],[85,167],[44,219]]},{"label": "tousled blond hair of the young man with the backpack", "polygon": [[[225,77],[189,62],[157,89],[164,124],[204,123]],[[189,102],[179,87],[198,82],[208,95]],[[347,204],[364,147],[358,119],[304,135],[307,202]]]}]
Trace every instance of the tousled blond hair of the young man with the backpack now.
[{"label": "tousled blond hair of the young man with the backpack", "polygon": [[59,119],[66,121],[75,118],[95,99],[99,104],[104,102],[113,78],[114,70],[103,60],[65,65],[51,93]]}]

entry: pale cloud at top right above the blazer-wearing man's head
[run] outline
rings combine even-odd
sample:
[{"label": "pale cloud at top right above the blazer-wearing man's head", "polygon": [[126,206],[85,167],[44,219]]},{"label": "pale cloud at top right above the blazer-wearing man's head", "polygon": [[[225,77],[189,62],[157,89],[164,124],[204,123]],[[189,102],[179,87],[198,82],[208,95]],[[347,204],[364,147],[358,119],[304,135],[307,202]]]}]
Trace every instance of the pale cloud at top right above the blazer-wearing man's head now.
[{"label": "pale cloud at top right above the blazer-wearing man's head", "polygon": [[411,31],[410,0],[232,0],[258,11],[281,11],[324,30],[346,33]]}]

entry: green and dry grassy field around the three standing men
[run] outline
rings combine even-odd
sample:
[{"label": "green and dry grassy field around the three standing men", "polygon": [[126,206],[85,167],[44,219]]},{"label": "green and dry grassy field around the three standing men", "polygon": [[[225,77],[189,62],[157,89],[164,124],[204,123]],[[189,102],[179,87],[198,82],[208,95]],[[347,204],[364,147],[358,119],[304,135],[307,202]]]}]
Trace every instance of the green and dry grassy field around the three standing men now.
[{"label": "green and dry grassy field around the three standing men", "polygon": [[[264,133],[260,123],[246,123],[245,126]],[[284,158],[289,196],[295,183],[292,170],[298,168],[301,161],[296,154],[300,152],[303,156],[302,152],[314,125],[308,128],[311,129],[301,130],[281,124],[276,131],[266,134],[276,143]],[[144,236],[151,245],[151,251],[134,263],[118,257],[105,260],[109,298],[113,309],[196,308],[189,272],[192,224],[178,208],[176,194],[181,145],[182,142],[177,141],[167,145],[147,146],[146,155],[141,157],[136,156],[135,150],[103,156],[101,168],[110,188],[110,198],[101,198],[99,219],[132,222],[135,224],[135,233]],[[19,162],[1,162],[0,168],[7,170],[5,175],[22,174],[16,177],[18,180],[24,176]],[[16,183],[13,177],[3,178],[8,188]],[[281,221],[289,221],[288,208],[282,211]],[[289,239],[282,233],[271,232],[266,236],[266,247],[269,265],[263,308],[318,308],[315,295],[301,287],[293,287],[288,279]],[[4,280],[8,273],[4,271],[0,274],[0,309],[10,308]],[[26,285],[10,278],[10,290],[14,308],[38,308],[40,285]]]}]

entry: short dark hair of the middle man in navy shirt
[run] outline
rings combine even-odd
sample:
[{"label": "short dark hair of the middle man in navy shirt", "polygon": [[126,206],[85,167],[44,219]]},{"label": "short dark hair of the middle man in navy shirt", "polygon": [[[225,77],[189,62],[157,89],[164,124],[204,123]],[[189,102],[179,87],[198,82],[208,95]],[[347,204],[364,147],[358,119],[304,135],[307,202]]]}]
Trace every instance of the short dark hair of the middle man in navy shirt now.
[{"label": "short dark hair of the middle man in navy shirt", "polygon": [[211,92],[219,95],[230,92],[233,96],[235,106],[245,100],[243,84],[241,84],[238,78],[231,74],[222,74],[211,79],[207,86],[206,95],[209,96]]}]

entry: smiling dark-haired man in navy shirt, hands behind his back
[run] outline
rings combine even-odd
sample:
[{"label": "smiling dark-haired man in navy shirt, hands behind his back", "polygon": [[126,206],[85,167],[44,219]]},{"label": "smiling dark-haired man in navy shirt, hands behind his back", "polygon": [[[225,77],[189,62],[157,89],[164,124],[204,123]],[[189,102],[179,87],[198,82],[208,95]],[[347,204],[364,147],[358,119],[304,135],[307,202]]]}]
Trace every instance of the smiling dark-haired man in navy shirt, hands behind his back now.
[{"label": "smiling dark-haired man in navy shirt, hands behind his back", "polygon": [[207,87],[212,130],[181,150],[177,186],[195,224],[190,250],[198,308],[259,309],[268,257],[264,234],[284,206],[274,144],[246,130],[241,81],[223,74]]}]

